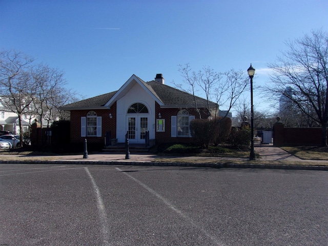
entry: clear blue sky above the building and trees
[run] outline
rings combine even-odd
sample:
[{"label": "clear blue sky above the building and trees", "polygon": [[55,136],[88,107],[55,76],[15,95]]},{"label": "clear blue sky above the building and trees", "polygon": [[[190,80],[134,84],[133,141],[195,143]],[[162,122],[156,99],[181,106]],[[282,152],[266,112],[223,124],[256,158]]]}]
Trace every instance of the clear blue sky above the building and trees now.
[{"label": "clear blue sky above the building and trees", "polygon": [[[118,90],[132,74],[162,73],[173,86],[187,63],[245,73],[252,63],[260,86],[283,42],[328,31],[327,13],[326,0],[0,0],[0,49],[64,70],[67,87],[86,98]],[[257,92],[255,108],[269,108]]]}]

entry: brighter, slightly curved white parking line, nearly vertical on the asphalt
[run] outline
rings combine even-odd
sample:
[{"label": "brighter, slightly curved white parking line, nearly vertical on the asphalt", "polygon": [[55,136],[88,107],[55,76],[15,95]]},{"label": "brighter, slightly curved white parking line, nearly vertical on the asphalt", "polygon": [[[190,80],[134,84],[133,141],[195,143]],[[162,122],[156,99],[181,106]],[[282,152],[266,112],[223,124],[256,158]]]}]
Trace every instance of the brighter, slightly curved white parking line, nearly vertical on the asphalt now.
[{"label": "brighter, slightly curved white parking line, nearly vertical on the asphalt", "polygon": [[103,240],[104,240],[104,245],[110,245],[109,244],[109,226],[108,226],[108,218],[103,202],[103,198],[101,197],[99,188],[96,184],[96,181],[92,177],[90,171],[88,168],[84,168],[92,182],[93,189],[95,190],[96,193],[96,198],[97,198],[97,208],[98,208],[98,214],[99,214],[99,219],[100,219],[100,224],[101,224],[101,232],[103,233]]}]

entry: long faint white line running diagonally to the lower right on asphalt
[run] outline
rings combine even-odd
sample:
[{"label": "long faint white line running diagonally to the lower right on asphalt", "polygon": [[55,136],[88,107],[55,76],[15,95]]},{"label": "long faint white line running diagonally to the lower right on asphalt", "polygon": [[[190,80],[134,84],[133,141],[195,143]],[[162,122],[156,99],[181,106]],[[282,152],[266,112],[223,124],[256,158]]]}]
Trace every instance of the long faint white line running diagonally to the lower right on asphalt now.
[{"label": "long faint white line running diagonally to the lower right on asphalt", "polygon": [[147,185],[145,185],[144,183],[142,183],[138,179],[132,177],[131,175],[127,174],[126,172],[122,171],[121,169],[119,169],[119,168],[115,168],[115,169],[117,169],[118,171],[124,173],[129,178],[131,178],[132,180],[134,180],[135,182],[137,182],[140,186],[144,187],[151,194],[153,194],[154,196],[156,196],[157,198],[159,198],[162,202],[164,202],[166,204],[166,206],[168,206],[170,209],[172,209],[174,212],[176,212],[182,218],[186,219],[190,224],[192,224],[192,226],[198,228],[204,235],[206,235],[207,237],[209,237],[216,245],[221,245],[221,246],[224,245],[223,243],[219,242],[219,240],[217,238],[215,238],[214,236],[210,235],[205,229],[203,229],[202,227],[198,226],[192,220],[192,218],[190,218],[188,215],[184,214],[181,210],[175,208],[170,201],[168,201],[167,199],[165,199],[164,197],[162,197],[161,195],[159,195],[156,191],[154,191],[153,189],[149,188]]}]

